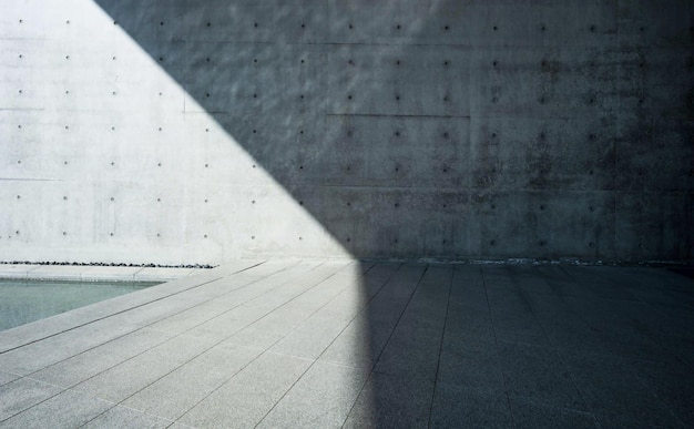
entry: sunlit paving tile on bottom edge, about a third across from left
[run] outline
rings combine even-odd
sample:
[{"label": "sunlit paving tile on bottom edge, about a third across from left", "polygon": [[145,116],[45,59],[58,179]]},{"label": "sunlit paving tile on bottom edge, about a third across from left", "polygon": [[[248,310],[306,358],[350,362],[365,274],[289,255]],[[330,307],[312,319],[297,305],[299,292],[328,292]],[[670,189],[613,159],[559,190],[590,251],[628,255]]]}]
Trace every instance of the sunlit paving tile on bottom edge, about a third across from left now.
[{"label": "sunlit paving tile on bottom edge, about a third across from left", "polygon": [[254,427],[309,365],[310,361],[305,359],[264,354],[180,421],[206,428]]}]

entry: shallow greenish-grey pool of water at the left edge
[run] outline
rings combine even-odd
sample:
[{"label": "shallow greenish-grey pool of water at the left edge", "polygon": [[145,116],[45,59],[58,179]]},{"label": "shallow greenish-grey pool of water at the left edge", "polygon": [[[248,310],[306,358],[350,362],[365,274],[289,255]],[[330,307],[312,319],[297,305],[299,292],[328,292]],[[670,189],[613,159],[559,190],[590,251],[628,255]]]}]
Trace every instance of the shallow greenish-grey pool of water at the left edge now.
[{"label": "shallow greenish-grey pool of water at the left edge", "polygon": [[141,290],[153,282],[0,279],[0,330]]}]

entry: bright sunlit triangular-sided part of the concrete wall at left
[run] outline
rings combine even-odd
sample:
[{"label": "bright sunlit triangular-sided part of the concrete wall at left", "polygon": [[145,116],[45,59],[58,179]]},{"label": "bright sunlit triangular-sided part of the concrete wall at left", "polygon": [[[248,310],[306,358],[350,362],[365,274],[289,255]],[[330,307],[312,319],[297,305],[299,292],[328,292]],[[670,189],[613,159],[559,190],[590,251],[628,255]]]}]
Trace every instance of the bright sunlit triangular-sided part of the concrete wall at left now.
[{"label": "bright sunlit triangular-sided part of the concrete wall at left", "polygon": [[1,261],[350,257],[163,67],[185,59],[92,1],[3,9]]}]

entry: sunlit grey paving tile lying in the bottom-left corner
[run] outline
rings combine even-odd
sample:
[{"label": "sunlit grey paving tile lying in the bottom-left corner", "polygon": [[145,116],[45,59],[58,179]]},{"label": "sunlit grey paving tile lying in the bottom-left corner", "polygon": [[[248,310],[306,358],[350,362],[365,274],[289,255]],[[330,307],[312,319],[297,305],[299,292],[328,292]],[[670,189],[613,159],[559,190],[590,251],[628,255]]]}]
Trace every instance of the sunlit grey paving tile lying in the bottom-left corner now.
[{"label": "sunlit grey paving tile lying in the bottom-left corner", "polygon": [[88,395],[64,390],[0,423],[0,428],[76,428],[113,405]]}]

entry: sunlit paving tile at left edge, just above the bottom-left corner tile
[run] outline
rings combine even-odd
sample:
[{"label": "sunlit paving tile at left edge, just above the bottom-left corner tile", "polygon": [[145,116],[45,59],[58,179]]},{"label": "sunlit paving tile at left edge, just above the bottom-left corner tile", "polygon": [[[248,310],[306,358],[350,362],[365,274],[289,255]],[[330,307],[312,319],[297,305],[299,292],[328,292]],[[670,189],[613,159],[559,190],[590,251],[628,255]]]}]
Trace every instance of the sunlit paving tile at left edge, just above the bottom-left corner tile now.
[{"label": "sunlit paving tile at left edge, just above the bottom-left corner tile", "polygon": [[29,409],[63,389],[45,382],[20,378],[0,386],[0,421]]}]

